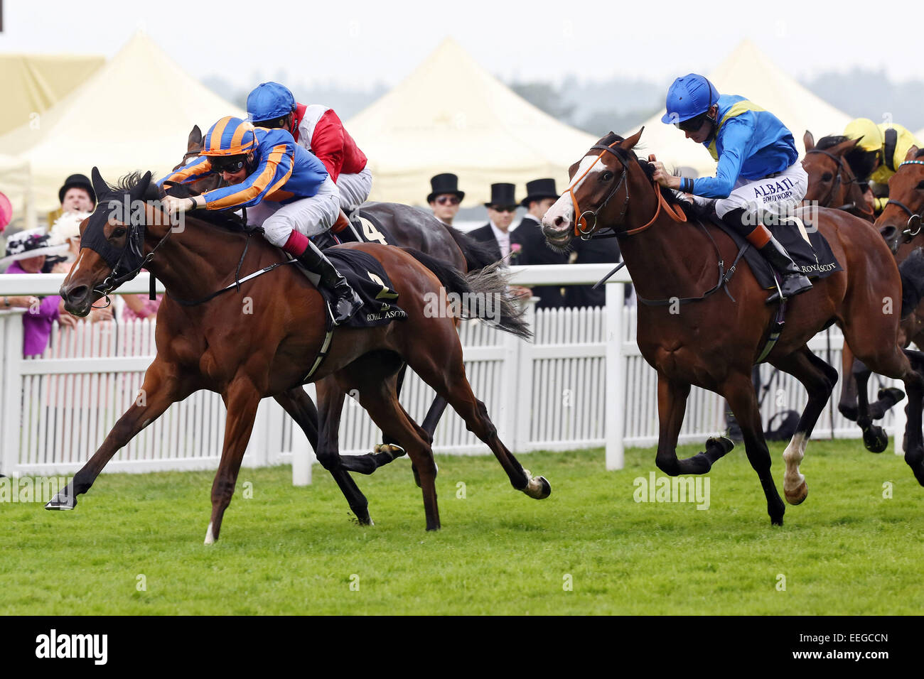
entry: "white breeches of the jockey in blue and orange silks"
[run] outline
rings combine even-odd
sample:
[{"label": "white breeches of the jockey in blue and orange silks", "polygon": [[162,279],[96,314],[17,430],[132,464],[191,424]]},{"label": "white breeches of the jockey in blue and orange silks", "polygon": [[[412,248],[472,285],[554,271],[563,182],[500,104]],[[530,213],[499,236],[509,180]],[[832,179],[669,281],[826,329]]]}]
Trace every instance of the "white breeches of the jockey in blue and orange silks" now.
[{"label": "white breeches of the jockey in blue and orange silks", "polygon": [[340,214],[340,193],[330,177],[310,198],[289,203],[263,200],[247,209],[247,223],[262,226],[264,236],[277,248],[286,245],[293,231],[317,236],[331,228]]}]

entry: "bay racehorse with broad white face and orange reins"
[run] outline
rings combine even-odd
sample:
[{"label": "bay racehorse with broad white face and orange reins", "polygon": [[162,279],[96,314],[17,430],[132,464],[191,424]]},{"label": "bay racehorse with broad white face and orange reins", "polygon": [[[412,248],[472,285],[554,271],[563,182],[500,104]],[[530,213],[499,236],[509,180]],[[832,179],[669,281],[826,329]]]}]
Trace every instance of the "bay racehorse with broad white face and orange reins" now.
[{"label": "bay racehorse with broad white face and orange reins", "polygon": [[[724,262],[736,261],[738,251],[731,237],[711,222],[704,224],[692,206],[654,183],[652,165],[632,151],[641,133],[623,139],[611,132],[571,166],[572,182],[545,213],[543,233],[559,250],[576,236],[590,237],[601,229],[620,238],[639,297],[638,347],[658,372],[657,466],[671,476],[704,474],[732,449],[734,443],[719,438],[710,439],[699,455],[676,455],[690,386],[722,394],[741,426],[771,522],[782,525],[784,503],[773,483],[751,382],[775,305],[765,304],[766,291],[749,267],[733,265],[729,279]],[[905,381],[910,401],[906,462],[924,485],[924,378],[916,370],[924,368],[924,355],[902,351],[896,341],[898,317],[882,309],[883,297],[902,295],[894,258],[881,236],[857,217],[821,209],[817,222],[843,271],[816,280],[811,290],[788,300],[784,330],[766,358],[808,390],[808,405],[783,455],[786,500],[798,504],[808,494],[798,465],[837,380],[837,371],[806,343],[834,322],[870,368]]]}]

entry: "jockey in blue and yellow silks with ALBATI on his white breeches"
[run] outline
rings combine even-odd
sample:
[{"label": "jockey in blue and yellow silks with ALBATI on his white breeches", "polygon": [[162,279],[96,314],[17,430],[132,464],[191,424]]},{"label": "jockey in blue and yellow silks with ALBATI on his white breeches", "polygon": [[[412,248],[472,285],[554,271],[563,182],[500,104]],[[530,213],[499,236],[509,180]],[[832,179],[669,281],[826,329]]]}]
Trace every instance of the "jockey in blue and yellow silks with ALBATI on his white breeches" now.
[{"label": "jockey in blue and yellow silks with ALBATI on his white breeches", "polygon": [[764,225],[768,218],[792,215],[808,189],[792,133],[769,111],[744,97],[719,94],[695,73],[675,79],[666,108],[662,121],[703,144],[718,166],[713,177],[690,179],[671,175],[654,161],[655,180],[692,194],[699,204],[714,205],[723,222],[782,275],[783,297],[810,289],[808,278]]}]

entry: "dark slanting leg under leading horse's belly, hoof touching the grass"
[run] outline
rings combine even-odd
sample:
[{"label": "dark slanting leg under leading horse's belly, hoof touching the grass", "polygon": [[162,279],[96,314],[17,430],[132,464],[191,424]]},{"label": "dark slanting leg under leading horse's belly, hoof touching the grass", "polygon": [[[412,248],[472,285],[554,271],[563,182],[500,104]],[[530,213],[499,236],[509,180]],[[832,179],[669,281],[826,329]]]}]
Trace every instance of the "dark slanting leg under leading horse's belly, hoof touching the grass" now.
[{"label": "dark slanting leg under leading horse's belly, hoof touching the grass", "polygon": [[[324,381],[322,380],[322,382]],[[319,402],[322,399],[322,387],[320,385],[321,382],[315,385],[318,389]],[[334,406],[334,412],[336,413],[339,413],[339,408],[343,406],[343,393],[340,392],[340,394],[338,405]],[[286,408],[286,412],[308,436],[311,447],[314,448],[315,454],[318,456],[318,461],[322,462],[322,467],[327,469],[331,476],[334,477],[334,481],[336,481],[340,491],[344,494],[346,502],[349,504],[353,514],[356,515],[359,523],[371,526],[369,501],[359,490],[359,486],[356,485],[356,482],[350,477],[346,469],[340,464],[340,455],[337,452],[339,418],[319,418],[318,411],[311,402],[309,395],[300,386],[290,389],[285,394],[278,394],[275,399],[280,406]],[[328,408],[327,412],[329,414],[331,409]],[[334,421],[331,421],[331,419]],[[321,424],[326,426],[321,427]],[[333,455],[331,455],[332,449]]]}]

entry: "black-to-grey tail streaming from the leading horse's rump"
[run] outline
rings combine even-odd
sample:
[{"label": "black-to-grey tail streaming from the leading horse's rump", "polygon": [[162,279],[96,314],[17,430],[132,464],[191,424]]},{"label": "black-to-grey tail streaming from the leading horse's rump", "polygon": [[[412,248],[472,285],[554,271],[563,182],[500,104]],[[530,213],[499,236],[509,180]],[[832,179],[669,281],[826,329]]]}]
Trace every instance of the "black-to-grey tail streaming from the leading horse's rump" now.
[{"label": "black-to-grey tail streaming from the leading horse's rump", "polygon": [[447,293],[458,297],[462,318],[479,319],[517,337],[532,338],[532,331],[524,320],[526,308],[518,305],[507,292],[506,276],[499,270],[500,261],[463,275],[444,261],[418,249],[402,249],[440,279]]}]

